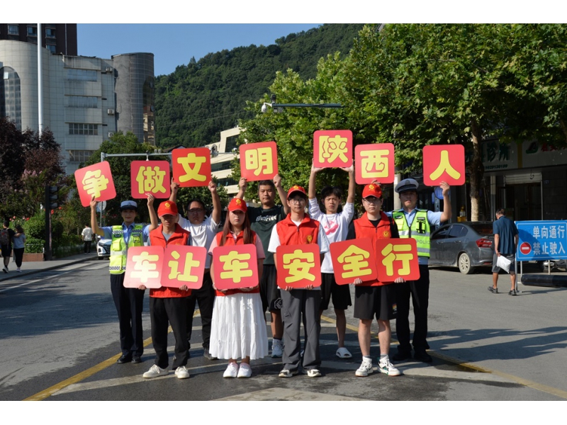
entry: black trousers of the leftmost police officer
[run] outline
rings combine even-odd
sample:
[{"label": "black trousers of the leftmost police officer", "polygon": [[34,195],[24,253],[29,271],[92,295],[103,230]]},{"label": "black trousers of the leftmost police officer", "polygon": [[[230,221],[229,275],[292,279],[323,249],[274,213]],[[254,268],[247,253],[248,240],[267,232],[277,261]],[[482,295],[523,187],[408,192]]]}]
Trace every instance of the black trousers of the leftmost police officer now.
[{"label": "black trousers of the leftmost police officer", "polygon": [[120,323],[120,348],[125,355],[142,356],[144,339],[142,334],[142,308],[144,292],[135,288],[124,288],[124,276],[111,274],[111,291]]}]

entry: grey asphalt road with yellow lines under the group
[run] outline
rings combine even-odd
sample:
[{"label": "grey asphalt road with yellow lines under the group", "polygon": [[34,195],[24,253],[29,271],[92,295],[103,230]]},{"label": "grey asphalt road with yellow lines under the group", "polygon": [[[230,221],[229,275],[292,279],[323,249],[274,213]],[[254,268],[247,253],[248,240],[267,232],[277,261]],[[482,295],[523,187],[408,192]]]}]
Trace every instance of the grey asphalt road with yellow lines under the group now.
[{"label": "grey asphalt road with yellow lines under the group", "polygon": [[[566,290],[520,284],[522,292],[512,297],[507,276],[501,276],[503,293],[494,295],[487,290],[490,273],[464,276],[449,269],[432,269],[431,282],[434,361],[400,363],[400,377],[378,372],[355,377],[361,361],[357,319],[347,312],[347,346],[354,357],[340,360],[330,309],[322,318],[321,378],[279,378],[281,359],[264,358],[252,363],[252,378],[223,379],[226,363],[202,356],[197,317],[191,378],[179,380],[171,372],[145,380],[142,373],[154,356],[147,296],[144,362],[118,365],[118,322],[106,261],[15,278],[0,284],[0,400],[567,399]],[[371,351],[378,356],[376,338]]]}]

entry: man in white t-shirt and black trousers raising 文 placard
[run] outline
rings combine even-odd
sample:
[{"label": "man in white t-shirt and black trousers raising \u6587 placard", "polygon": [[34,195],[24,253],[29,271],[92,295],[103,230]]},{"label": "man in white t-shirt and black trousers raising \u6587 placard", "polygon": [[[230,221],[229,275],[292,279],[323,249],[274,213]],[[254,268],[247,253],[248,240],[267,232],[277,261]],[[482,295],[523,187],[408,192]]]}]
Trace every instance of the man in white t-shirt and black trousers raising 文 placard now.
[{"label": "man in white t-shirt and black trousers raising \u6587 placard", "polygon": [[[178,183],[172,183],[172,195],[169,200],[176,202]],[[192,246],[204,246],[207,251],[217,234],[218,223],[220,222],[220,198],[217,193],[217,185],[213,181],[208,182],[208,190],[213,198],[213,212],[205,217],[205,204],[200,199],[189,201],[187,206],[187,217],[179,215],[178,224],[191,233]],[[215,290],[213,280],[210,278],[210,256],[207,256],[205,264],[205,274],[203,275],[203,286],[199,289],[191,290],[191,296],[187,297],[187,340],[191,341],[191,331],[193,329],[193,312],[196,302],[198,302],[201,312],[201,325],[203,334],[203,356],[209,360],[217,360],[210,355],[210,322],[213,319],[213,305],[215,303]],[[190,346],[191,347],[191,346]]]}]

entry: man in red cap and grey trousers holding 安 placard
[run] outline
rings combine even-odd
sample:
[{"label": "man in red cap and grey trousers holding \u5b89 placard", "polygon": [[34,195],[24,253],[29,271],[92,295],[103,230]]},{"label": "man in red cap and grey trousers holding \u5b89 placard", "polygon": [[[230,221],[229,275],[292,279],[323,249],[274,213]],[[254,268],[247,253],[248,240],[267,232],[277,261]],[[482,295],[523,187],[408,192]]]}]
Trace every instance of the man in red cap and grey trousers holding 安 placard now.
[{"label": "man in red cap and grey trousers holding \u5b89 placard", "polygon": [[[290,212],[286,219],[278,222],[272,230],[268,251],[275,254],[280,245],[318,244],[322,261],[325,252],[329,251],[329,241],[320,223],[305,215],[306,203],[305,189],[301,186],[291,186],[287,198]],[[279,267],[276,261],[276,268]],[[313,288],[310,285],[305,289],[283,289],[281,291],[281,317],[285,317],[283,320],[283,370],[279,376],[289,378],[297,375],[300,363],[310,378],[321,376],[319,371],[321,364],[319,355],[321,288]],[[300,354],[302,312],[305,327],[303,361]]]}]

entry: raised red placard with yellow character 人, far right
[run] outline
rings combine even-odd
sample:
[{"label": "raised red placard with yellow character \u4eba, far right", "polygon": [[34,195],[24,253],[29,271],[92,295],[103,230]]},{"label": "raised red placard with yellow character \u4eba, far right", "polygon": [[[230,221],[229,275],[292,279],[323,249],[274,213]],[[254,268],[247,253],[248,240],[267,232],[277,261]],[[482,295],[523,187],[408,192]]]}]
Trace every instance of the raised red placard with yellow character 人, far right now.
[{"label": "raised red placard with yellow character \u4eba, far right", "polygon": [[437,186],[465,183],[465,147],[463,145],[429,145],[423,147],[423,183]]}]

